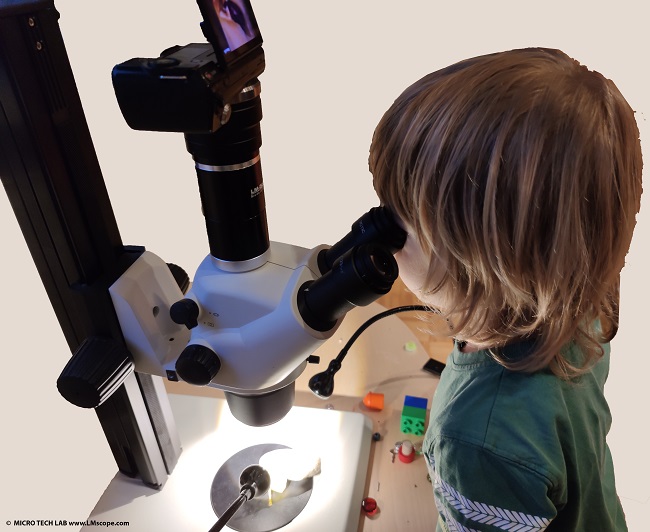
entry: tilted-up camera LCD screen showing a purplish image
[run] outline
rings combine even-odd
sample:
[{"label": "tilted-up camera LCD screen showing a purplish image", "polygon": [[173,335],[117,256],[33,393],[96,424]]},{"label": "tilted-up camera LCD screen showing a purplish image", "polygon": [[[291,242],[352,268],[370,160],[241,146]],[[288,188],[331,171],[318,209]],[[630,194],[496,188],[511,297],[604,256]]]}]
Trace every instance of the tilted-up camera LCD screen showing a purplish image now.
[{"label": "tilted-up camera LCD screen showing a purplish image", "polygon": [[197,3],[208,25],[206,37],[226,65],[262,44],[250,0],[197,0]]}]

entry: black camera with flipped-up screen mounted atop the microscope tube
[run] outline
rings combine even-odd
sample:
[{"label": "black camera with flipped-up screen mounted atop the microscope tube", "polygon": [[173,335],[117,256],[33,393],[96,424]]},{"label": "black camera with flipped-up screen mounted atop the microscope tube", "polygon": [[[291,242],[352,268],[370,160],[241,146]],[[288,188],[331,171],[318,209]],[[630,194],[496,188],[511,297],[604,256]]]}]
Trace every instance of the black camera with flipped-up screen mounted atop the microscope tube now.
[{"label": "black camera with flipped-up screen mounted atop the microscope tube", "polygon": [[209,43],[173,46],[159,57],[129,59],[113,68],[115,94],[132,129],[212,133],[228,122],[241,91],[264,72],[262,37],[250,2],[224,2],[250,34],[238,30],[243,37],[230,38],[237,39],[236,47],[224,25],[239,25],[223,18],[219,3],[198,1]]}]

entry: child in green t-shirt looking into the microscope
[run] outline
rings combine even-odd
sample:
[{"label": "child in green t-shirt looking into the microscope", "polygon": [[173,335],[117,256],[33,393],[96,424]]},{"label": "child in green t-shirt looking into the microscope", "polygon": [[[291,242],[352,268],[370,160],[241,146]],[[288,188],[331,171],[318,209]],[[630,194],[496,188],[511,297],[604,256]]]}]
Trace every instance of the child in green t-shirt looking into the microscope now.
[{"label": "child in green t-shirt looking into the microscope", "polygon": [[629,105],[557,50],[477,57],[406,89],[369,163],[400,276],[455,339],[423,444],[438,530],[627,530],[603,386],[641,196]]}]

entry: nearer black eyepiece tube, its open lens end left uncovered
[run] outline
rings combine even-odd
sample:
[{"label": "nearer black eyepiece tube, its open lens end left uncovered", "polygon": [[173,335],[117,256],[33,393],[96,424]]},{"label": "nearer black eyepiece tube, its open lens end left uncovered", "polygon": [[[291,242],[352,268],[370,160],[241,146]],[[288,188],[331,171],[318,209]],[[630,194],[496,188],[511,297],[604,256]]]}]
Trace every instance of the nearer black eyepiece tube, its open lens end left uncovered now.
[{"label": "nearer black eyepiece tube, its open lens end left uncovered", "polygon": [[330,271],[300,288],[298,310],[312,329],[327,331],[352,308],[387,294],[397,275],[397,262],[388,249],[378,244],[355,246]]}]

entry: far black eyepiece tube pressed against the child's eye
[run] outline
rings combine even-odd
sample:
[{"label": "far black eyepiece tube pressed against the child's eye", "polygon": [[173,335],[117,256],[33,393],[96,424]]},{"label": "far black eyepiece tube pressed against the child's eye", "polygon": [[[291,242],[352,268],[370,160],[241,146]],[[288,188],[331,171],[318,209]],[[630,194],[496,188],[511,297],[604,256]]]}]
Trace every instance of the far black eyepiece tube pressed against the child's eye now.
[{"label": "far black eyepiece tube pressed against the child's eye", "polygon": [[406,232],[397,224],[386,207],[373,207],[354,224],[351,231],[318,257],[321,273],[332,269],[336,260],[355,246],[380,244],[391,254],[399,251],[406,242]]}]

